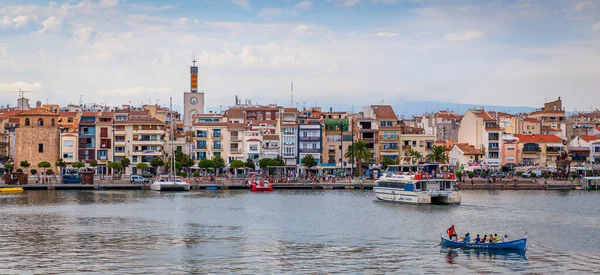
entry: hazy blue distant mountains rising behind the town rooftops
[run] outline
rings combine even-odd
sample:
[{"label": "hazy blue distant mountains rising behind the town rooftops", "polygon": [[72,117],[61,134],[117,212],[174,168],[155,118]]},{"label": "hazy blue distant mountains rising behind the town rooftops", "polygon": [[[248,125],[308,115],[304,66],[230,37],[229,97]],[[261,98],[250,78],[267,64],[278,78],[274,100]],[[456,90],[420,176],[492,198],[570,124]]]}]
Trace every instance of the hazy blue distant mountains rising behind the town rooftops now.
[{"label": "hazy blue distant mountains rising behind the town rooftops", "polygon": [[[449,111],[454,111],[457,114],[464,114],[467,111],[467,109],[483,108],[485,110],[490,110],[490,111],[498,111],[498,112],[516,114],[516,113],[527,113],[527,112],[531,112],[536,109],[533,107],[526,107],[526,106],[477,105],[477,104],[462,104],[462,103],[437,102],[437,101],[409,101],[409,102],[401,102],[401,103],[383,103],[383,104],[392,105],[392,107],[394,108],[394,111],[396,112],[396,115],[404,116],[404,117],[422,115],[427,112],[431,113],[431,112],[437,112],[439,110],[449,110]],[[324,112],[328,112],[330,109],[333,111],[360,112],[362,109],[362,106],[363,106],[362,104],[351,105],[351,104],[341,104],[341,103],[333,103],[333,104],[327,104],[327,103],[321,104],[320,103],[319,105],[321,105],[321,108]],[[372,104],[372,105],[376,105],[376,104]],[[176,110],[180,109],[180,108],[178,108],[180,106],[176,107],[174,105],[173,107]],[[289,107],[289,106],[284,106],[284,107]],[[294,106],[294,107],[296,107],[296,106]],[[302,108],[303,106],[297,106],[297,107]],[[305,107],[308,108],[311,106],[306,105]],[[210,107],[209,106],[209,107],[206,107],[206,112],[209,112],[209,111],[218,112],[219,110],[223,111],[225,109],[226,109],[226,107],[219,108],[219,107]],[[181,110],[179,110],[179,111],[183,111],[183,108],[181,108]]]}]

